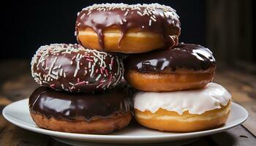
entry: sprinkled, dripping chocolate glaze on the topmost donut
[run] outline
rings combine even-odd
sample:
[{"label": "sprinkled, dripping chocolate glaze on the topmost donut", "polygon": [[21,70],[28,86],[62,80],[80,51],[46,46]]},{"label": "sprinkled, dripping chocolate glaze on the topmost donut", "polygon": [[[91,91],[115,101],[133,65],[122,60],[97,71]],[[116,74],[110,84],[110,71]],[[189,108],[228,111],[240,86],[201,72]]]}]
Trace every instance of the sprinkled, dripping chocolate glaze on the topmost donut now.
[{"label": "sprinkled, dripping chocolate glaze on the topmost donut", "polygon": [[[174,46],[177,45],[181,33],[180,25],[176,11],[160,4],[95,4],[78,13],[75,28],[77,32],[84,28],[92,28],[97,33],[102,48],[102,32],[110,26],[120,28],[121,39],[130,28],[139,28],[140,31],[162,34],[166,45]],[[118,41],[119,46],[121,39]]]}]

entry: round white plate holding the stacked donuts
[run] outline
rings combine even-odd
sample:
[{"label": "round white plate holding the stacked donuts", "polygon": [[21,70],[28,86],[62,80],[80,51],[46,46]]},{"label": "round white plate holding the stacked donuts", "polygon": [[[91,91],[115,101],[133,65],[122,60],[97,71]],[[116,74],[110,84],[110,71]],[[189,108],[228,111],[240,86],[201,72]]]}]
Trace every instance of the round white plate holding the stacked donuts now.
[{"label": "round white plate holding the stacked donuts", "polygon": [[3,110],[4,118],[11,123],[25,128],[29,131],[34,131],[40,134],[47,134],[55,139],[75,145],[82,145],[81,142],[108,142],[108,143],[151,143],[151,142],[171,142],[178,140],[193,139],[197,137],[203,137],[210,134],[216,134],[225,131],[229,128],[233,128],[243,123],[248,117],[248,112],[236,103],[231,104],[230,117],[227,120],[225,126],[215,128],[206,131],[197,131],[189,133],[174,133],[174,132],[162,132],[154,131],[143,126],[135,124],[129,125],[123,130],[116,131],[107,135],[97,134],[72,134],[58,131],[50,131],[43,128],[39,128],[35,125],[34,121],[29,115],[28,99],[13,102]]}]

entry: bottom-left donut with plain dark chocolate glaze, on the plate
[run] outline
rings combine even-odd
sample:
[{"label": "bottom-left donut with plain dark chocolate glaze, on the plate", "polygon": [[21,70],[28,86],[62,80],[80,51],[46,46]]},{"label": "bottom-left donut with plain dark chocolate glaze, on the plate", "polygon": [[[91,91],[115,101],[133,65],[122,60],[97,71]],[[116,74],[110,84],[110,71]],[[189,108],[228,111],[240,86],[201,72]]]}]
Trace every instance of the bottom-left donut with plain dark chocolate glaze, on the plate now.
[{"label": "bottom-left donut with plain dark chocolate glaze, on the plate", "polygon": [[34,122],[53,131],[107,134],[129,124],[129,109],[129,97],[121,88],[74,94],[41,86],[29,97]]}]

